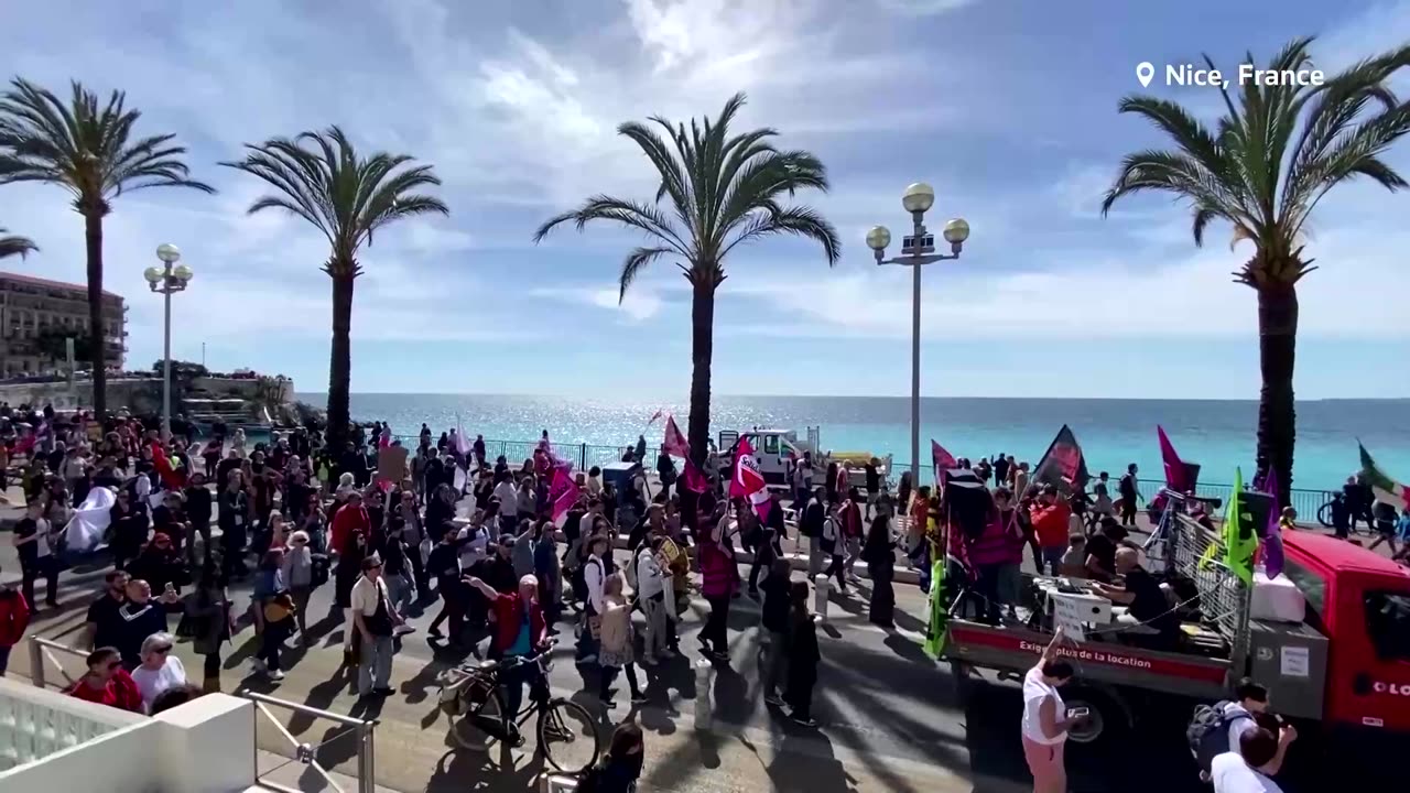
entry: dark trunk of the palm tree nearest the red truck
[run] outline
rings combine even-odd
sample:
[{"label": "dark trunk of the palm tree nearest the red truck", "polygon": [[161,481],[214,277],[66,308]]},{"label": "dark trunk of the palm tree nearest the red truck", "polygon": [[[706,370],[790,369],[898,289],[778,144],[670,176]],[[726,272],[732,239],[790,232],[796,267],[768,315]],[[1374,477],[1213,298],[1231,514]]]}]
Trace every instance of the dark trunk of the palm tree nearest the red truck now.
[{"label": "dark trunk of the palm tree nearest the red truck", "polygon": [[1269,284],[1258,289],[1258,358],[1263,389],[1258,402],[1258,454],[1262,471],[1277,473],[1279,507],[1287,507],[1293,487],[1293,443],[1297,433],[1293,404],[1293,364],[1297,347],[1297,289]]}]

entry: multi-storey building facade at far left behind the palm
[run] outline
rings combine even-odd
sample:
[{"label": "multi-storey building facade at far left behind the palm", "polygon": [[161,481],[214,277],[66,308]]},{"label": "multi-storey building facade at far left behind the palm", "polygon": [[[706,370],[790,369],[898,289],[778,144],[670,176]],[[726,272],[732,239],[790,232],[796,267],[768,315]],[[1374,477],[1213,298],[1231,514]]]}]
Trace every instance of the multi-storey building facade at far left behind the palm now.
[{"label": "multi-storey building facade at far left behind the palm", "polygon": [[[102,343],[107,368],[127,358],[127,305],[103,292]],[[89,334],[87,286],[0,272],[0,377],[54,374],[66,368],[62,339]],[[54,341],[58,339],[59,341]],[[79,368],[87,368],[83,358]]]}]

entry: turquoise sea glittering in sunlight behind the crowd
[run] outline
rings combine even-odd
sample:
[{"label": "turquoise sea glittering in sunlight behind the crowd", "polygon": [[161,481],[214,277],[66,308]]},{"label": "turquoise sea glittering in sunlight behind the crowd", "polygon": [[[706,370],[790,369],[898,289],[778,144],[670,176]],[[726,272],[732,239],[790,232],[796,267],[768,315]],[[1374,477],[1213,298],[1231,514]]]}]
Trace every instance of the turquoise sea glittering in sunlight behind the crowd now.
[{"label": "turquoise sea glittering in sunlight behind the crowd", "polygon": [[[323,405],[323,394],[300,394]],[[352,394],[357,420],[391,422],[400,435],[416,435],[422,422],[437,435],[460,426],[489,440],[536,440],[544,429],[554,443],[626,446],[639,433],[660,443],[664,420],[674,413],[684,432],[688,406],[634,399],[564,396]],[[911,402],[904,396],[715,396],[711,430],[752,428],[819,429],[821,446],[838,452],[894,454],[904,467],[911,457]],[[1213,399],[1022,399],[925,398],[921,401],[921,463],[929,466],[935,439],[956,457],[1012,454],[1036,463],[1053,436],[1067,425],[1083,447],[1093,474],[1120,476],[1136,463],[1142,478],[1163,477],[1156,426],[1163,426],[1186,461],[1200,463],[1201,483],[1234,481],[1242,467],[1253,476],[1258,404]],[[1359,470],[1356,440],[1376,463],[1400,481],[1410,480],[1410,399],[1327,399],[1297,405],[1297,447],[1293,487],[1340,488]],[[1286,487],[1286,485],[1285,485]]]}]

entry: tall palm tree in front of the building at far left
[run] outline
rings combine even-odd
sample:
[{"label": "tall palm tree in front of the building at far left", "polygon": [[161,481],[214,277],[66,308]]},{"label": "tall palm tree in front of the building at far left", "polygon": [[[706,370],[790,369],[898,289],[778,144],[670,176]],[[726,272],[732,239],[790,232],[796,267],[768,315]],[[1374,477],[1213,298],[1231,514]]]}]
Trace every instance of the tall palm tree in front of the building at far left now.
[{"label": "tall palm tree in front of the building at far left", "polygon": [[48,182],[73,196],[83,216],[87,243],[89,330],[93,344],[93,411],[107,412],[107,361],[103,325],[103,217],[111,200],[145,188],[192,188],[216,192],[190,179],[175,135],[140,138],[133,134],[141,113],[125,107],[127,95],[114,90],[107,103],[72,83],[65,103],[54,93],[16,78],[0,96],[0,185]]}]

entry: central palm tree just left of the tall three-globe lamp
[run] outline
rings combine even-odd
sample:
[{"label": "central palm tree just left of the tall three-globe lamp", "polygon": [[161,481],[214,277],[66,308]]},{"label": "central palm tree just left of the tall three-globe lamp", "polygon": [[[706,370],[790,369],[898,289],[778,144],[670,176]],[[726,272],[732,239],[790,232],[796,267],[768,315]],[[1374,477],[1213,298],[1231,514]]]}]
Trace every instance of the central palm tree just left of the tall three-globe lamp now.
[{"label": "central palm tree just left of the tall three-globe lamp", "polygon": [[768,138],[777,130],[760,128],[730,137],[729,124],[744,106],[736,93],[715,121],[691,120],[674,126],[653,116],[664,130],[666,144],[647,124],[627,121],[618,134],[642,148],[661,178],[650,203],[598,195],[572,212],[564,212],[539,227],[534,243],[561,223],[572,222],[581,231],[591,220],[609,220],[643,231],[649,244],[633,248],[622,264],[619,301],[626,298],[636,277],[657,258],[678,257],[677,267],[691,284],[691,416],[687,430],[691,457],[705,461],[709,439],[709,380],[715,347],[715,291],[723,284],[725,257],[736,246],[773,234],[797,234],[816,240],[828,265],[842,254],[838,233],[828,220],[807,206],[783,206],[799,189],[828,189],[826,169],[807,151],[780,151]]}]

